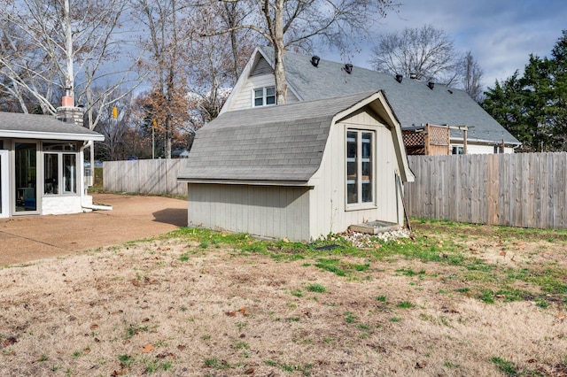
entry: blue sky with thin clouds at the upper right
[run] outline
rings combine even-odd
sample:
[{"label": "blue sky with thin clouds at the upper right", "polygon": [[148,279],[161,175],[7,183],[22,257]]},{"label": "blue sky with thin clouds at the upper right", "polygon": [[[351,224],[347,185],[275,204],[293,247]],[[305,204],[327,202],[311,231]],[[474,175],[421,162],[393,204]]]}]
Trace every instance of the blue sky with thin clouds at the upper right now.
[{"label": "blue sky with thin clouds at the upper right", "polygon": [[[493,87],[516,70],[524,72],[530,54],[551,54],[567,30],[567,0],[394,0],[376,33],[392,33],[425,24],[443,30],[455,50],[469,51],[484,71],[483,84]],[[353,65],[372,68],[371,47],[353,57]]]}]

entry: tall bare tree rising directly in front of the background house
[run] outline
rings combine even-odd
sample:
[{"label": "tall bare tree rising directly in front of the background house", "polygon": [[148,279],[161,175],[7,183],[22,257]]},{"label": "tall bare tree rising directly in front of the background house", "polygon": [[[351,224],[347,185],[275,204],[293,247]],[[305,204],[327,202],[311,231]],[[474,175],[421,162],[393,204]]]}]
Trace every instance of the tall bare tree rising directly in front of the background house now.
[{"label": "tall bare tree rising directly in front of the background house", "polygon": [[[208,0],[209,6],[217,0]],[[334,46],[355,44],[367,35],[377,19],[399,4],[392,0],[221,0],[243,4],[252,10],[242,23],[219,27],[212,33],[218,35],[234,30],[250,29],[261,35],[274,49],[276,76],[276,102],[286,101],[285,50],[295,46],[309,47],[315,39]]]}]

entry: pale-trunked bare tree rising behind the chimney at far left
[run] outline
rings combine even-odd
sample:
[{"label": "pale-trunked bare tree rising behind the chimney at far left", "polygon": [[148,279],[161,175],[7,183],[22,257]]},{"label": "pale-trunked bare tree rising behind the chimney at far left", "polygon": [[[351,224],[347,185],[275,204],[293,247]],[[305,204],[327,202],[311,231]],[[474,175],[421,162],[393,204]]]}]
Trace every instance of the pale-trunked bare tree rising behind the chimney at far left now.
[{"label": "pale-trunked bare tree rising behind the chimney at far left", "polygon": [[[64,92],[76,104],[84,103],[89,88],[109,75],[102,69],[105,63],[120,56],[124,41],[116,37],[116,31],[126,4],[126,0],[6,4],[0,14],[0,75],[4,78],[0,88],[17,98],[22,112],[29,112],[30,104],[39,104],[42,112],[55,114]],[[101,114],[102,108],[118,101],[112,94],[131,72],[132,66],[113,71],[113,85],[89,106],[96,106]]]}]

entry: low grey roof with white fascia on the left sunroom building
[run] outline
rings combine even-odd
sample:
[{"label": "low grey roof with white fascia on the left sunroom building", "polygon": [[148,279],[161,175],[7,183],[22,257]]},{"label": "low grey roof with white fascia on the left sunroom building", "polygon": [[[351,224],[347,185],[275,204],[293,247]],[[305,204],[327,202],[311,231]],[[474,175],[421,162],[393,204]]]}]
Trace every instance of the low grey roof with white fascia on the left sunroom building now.
[{"label": "low grey roof with white fascia on the left sunroom building", "polygon": [[43,140],[105,140],[104,135],[50,115],[0,112],[0,137]]}]

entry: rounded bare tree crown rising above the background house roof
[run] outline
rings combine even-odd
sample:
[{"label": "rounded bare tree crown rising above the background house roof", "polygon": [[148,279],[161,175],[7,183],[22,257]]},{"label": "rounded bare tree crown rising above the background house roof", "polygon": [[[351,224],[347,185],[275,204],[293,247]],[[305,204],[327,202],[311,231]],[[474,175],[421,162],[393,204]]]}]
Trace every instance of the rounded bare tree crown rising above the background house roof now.
[{"label": "rounded bare tree crown rising above the background house roof", "polygon": [[447,85],[457,78],[458,58],[453,40],[431,25],[385,34],[372,53],[370,63],[378,72]]}]

